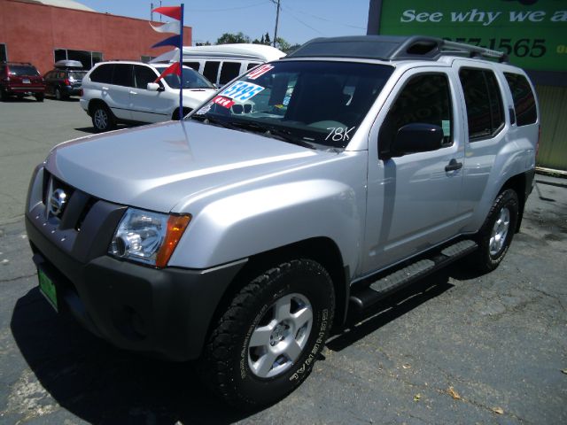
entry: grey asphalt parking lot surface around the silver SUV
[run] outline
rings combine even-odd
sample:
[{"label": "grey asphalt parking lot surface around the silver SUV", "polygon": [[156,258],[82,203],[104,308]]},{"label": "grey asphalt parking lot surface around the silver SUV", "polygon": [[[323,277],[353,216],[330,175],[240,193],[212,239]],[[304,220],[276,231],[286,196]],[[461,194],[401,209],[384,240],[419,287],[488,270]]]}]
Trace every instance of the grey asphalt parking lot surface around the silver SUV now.
[{"label": "grey asphalt parking lot surface around the silver SUV", "polygon": [[121,352],[39,294],[28,180],[90,131],[76,99],[0,103],[0,423],[567,423],[567,180],[537,175],[496,271],[458,262],[351,318],[298,390],[242,413],[193,365]]}]

